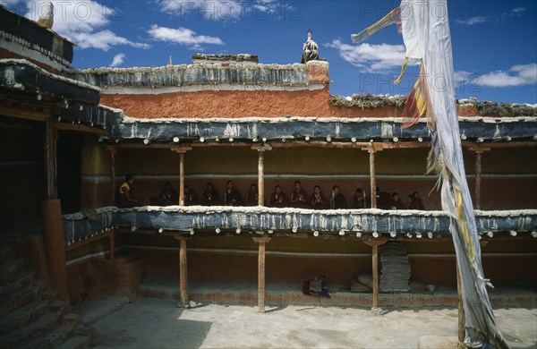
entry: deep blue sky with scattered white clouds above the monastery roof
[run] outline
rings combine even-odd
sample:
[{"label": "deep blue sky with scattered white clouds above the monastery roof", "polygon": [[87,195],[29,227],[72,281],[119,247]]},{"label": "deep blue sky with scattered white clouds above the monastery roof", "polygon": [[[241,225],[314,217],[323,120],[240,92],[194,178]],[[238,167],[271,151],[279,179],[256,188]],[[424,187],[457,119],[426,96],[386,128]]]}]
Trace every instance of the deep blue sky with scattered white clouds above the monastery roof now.
[{"label": "deep blue sky with scattered white clouds above the monastery roof", "polygon": [[[37,19],[42,1],[0,0]],[[134,0],[54,1],[54,30],[71,39],[73,66],[158,66],[169,55],[189,64],[192,54],[259,55],[263,64],[300,61],[308,29],[330,64],[330,91],[403,94],[411,66],[392,83],[405,56],[395,26],[356,45],[357,33],[398,1]],[[448,0],[457,98],[537,103],[537,2]]]}]

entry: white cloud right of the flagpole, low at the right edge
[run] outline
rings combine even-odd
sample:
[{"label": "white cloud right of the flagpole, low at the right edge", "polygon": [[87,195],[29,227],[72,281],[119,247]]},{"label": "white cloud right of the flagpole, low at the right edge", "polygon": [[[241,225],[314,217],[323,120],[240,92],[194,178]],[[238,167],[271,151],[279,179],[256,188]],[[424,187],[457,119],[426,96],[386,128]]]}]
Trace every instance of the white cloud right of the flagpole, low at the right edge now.
[{"label": "white cloud right of the flagpole, low at the right edge", "polygon": [[515,87],[537,83],[537,64],[517,64],[507,71],[494,71],[479,75],[474,72],[455,72],[457,85],[471,83],[473,86]]}]

